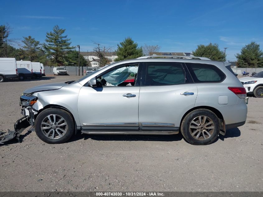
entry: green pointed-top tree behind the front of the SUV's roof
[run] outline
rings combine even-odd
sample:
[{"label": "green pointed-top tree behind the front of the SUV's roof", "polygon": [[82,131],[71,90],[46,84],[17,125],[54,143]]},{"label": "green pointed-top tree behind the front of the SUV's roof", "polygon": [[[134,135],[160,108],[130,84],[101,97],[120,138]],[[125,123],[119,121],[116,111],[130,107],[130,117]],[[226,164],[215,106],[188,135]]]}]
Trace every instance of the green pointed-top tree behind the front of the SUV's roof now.
[{"label": "green pointed-top tree behind the front of the SUV's roof", "polygon": [[115,59],[116,62],[124,59],[135,59],[143,56],[143,49],[138,47],[138,44],[128,37],[118,44],[116,55],[118,56]]}]

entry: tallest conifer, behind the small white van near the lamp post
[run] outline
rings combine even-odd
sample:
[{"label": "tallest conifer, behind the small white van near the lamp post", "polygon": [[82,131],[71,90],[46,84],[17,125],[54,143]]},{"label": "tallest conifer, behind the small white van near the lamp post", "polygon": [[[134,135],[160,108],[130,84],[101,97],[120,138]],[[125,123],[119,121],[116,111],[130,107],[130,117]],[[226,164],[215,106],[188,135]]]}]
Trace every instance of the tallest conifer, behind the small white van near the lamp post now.
[{"label": "tallest conifer, behind the small white van near the lamp post", "polygon": [[47,32],[45,40],[47,44],[43,44],[47,56],[52,57],[51,60],[56,65],[64,64],[66,52],[75,48],[70,46],[70,39],[64,32],[65,29],[60,29],[58,25],[54,26],[53,31]]}]

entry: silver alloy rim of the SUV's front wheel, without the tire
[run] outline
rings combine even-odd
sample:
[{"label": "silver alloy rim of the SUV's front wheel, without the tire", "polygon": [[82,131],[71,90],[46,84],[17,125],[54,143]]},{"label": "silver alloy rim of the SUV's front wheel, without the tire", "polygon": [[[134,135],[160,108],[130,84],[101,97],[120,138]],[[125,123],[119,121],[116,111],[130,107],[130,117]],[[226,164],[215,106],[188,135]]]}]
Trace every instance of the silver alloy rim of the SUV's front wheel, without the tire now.
[{"label": "silver alloy rim of the SUV's front wheel, without the tire", "polygon": [[63,137],[67,132],[67,129],[68,124],[60,115],[48,115],[41,122],[42,133],[50,139],[59,139]]}]

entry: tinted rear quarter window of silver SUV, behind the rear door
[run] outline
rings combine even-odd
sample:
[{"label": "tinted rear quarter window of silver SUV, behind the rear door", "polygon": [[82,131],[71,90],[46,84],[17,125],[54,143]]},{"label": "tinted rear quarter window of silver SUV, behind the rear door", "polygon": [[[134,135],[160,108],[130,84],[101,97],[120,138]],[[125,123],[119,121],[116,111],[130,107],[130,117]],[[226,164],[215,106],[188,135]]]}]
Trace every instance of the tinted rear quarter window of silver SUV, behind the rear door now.
[{"label": "tinted rear quarter window of silver SUV, behind the rear door", "polygon": [[225,74],[216,66],[202,63],[186,63],[195,83],[221,82]]}]

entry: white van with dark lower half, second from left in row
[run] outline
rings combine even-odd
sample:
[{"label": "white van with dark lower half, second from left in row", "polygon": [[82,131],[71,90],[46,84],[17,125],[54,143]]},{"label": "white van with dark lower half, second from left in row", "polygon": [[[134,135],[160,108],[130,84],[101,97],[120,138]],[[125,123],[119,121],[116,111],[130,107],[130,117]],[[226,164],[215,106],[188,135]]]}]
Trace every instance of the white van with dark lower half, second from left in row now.
[{"label": "white van with dark lower half, second from left in row", "polygon": [[31,61],[16,61],[18,77],[20,80],[33,78],[33,67]]}]

